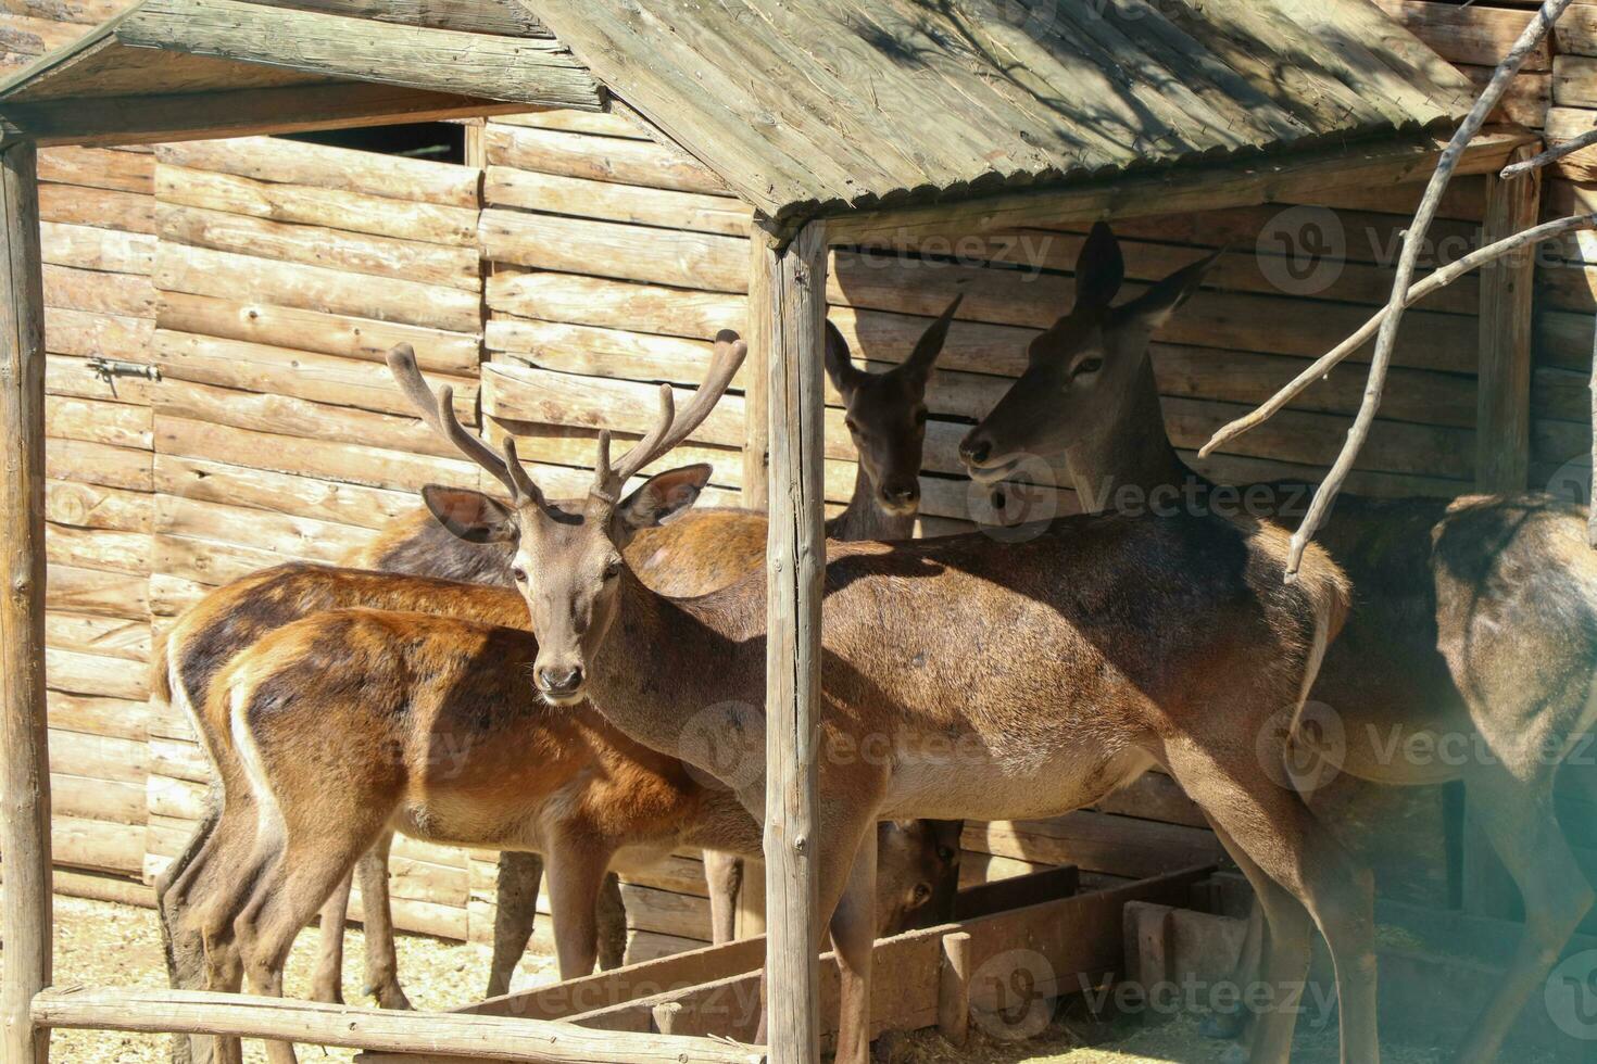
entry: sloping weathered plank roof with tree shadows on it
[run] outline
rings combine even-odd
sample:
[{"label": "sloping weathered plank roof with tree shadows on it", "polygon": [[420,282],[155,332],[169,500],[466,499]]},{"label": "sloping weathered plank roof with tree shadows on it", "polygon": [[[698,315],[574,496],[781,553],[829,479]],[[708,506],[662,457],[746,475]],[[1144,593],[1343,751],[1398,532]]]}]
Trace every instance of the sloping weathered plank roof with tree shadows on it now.
[{"label": "sloping weathered plank roof with tree shadows on it", "polygon": [[770,217],[1452,123],[1367,0],[524,0]]}]

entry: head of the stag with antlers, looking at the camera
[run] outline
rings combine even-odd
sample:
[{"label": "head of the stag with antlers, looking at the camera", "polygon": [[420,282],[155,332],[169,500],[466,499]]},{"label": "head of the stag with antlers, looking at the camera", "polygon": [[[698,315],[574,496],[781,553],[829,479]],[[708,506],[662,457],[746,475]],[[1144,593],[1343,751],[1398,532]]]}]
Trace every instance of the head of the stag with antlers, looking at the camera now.
[{"label": "head of the stag with antlers, looking at the camera", "polygon": [[709,416],[747,349],[738,333],[723,329],[715,337],[709,375],[688,408],[679,418],[671,386],[661,384],[655,426],[618,461],[610,459],[610,432],[600,432],[592,485],[575,501],[546,499],[522,469],[513,439],[505,439],[500,455],[466,431],[455,416],[450,389],[431,394],[409,345],[388,354],[388,368],[423,421],[509,491],[508,506],[460,488],[425,488],[422,495],[433,515],[462,539],[516,544],[511,576],[527,600],[538,636],[533,684],[546,702],[572,705],[583,699],[588,662],[615,621],[616,587],[626,565],[621,550],[640,528],[692,506],[711,467],[696,464],[655,474],[623,498],[626,482]]}]

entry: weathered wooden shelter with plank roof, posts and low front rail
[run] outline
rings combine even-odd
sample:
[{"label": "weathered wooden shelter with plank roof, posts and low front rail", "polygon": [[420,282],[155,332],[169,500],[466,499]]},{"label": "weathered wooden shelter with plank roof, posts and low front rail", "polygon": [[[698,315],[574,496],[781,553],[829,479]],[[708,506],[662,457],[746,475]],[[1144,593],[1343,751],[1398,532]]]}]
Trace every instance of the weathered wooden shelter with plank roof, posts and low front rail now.
[{"label": "weathered wooden shelter with plank roof, posts and low front rail", "polygon": [[[827,247],[933,233],[1302,201],[1431,169],[1469,81],[1362,0],[838,10],[687,0],[145,0],[0,85],[8,297],[0,605],[0,850],[6,1059],[48,1027],[307,1035],[501,1059],[749,1059],[703,1038],[525,1019],[292,1010],[251,999],[50,987],[43,676],[43,345],[38,145],[149,144],[537,107],[616,110],[693,156],[752,211],[744,498],[771,512],[767,817],[770,1059],[818,1054],[811,830],[824,547],[821,322]],[[1260,56],[1268,56],[1262,61]],[[1477,140],[1460,172],[1533,137]],[[1512,225],[1511,196],[1488,227]],[[1508,270],[1500,287],[1514,287]],[[1520,279],[1522,281],[1522,279]],[[1517,298],[1517,297],[1516,297]],[[1528,317],[1482,346],[1480,451],[1524,479]],[[1503,383],[1503,388],[1496,384]],[[1490,407],[1490,408],[1487,408]]]}]

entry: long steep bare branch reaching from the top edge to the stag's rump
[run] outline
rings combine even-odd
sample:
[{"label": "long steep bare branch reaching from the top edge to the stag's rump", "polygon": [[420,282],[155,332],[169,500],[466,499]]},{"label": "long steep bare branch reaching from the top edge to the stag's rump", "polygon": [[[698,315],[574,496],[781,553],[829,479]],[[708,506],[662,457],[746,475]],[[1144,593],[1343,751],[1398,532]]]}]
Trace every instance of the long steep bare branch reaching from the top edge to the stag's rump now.
[{"label": "long steep bare branch reaching from the top edge to the stag's rump", "polygon": [[1326,523],[1326,514],[1330,510],[1330,504],[1335,502],[1337,493],[1341,491],[1343,482],[1348,474],[1353,472],[1353,463],[1357,459],[1359,451],[1364,448],[1364,442],[1370,437],[1370,428],[1375,424],[1375,412],[1381,405],[1381,391],[1386,388],[1386,372],[1391,368],[1393,351],[1397,348],[1397,325],[1402,322],[1402,313],[1407,306],[1409,289],[1413,281],[1413,268],[1420,258],[1420,247],[1425,244],[1426,231],[1431,228],[1431,220],[1436,217],[1436,211],[1442,203],[1442,193],[1447,190],[1447,182],[1452,179],[1453,171],[1458,167],[1458,156],[1463,155],[1464,148],[1485,124],[1487,115],[1490,115],[1498,100],[1503,99],[1503,93],[1508,91],[1508,83],[1519,73],[1524,65],[1525,57],[1541,43],[1547,30],[1563,10],[1570,6],[1570,0],[1544,0],[1536,18],[1530,21],[1525,30],[1514,41],[1514,48],[1503,57],[1498,69],[1492,72],[1492,80],[1487,81],[1487,88],[1482,89],[1480,97],[1476,105],[1469,108],[1469,115],[1453,132],[1453,139],[1447,142],[1447,148],[1442,150],[1442,158],[1436,164],[1436,172],[1431,174],[1431,183],[1425,188],[1425,198],[1420,201],[1420,209],[1415,211],[1413,225],[1404,234],[1402,255],[1397,258],[1397,273],[1393,278],[1393,295],[1386,305],[1386,316],[1381,319],[1380,333],[1375,338],[1375,356],[1370,359],[1370,376],[1364,384],[1364,402],[1359,404],[1359,413],[1353,420],[1353,428],[1348,429],[1348,439],[1341,445],[1341,453],[1337,455],[1337,461],[1330,466],[1330,472],[1321,482],[1319,490],[1314,491],[1314,499],[1308,506],[1308,514],[1303,517],[1303,523],[1295,533],[1292,533],[1292,550],[1287,555],[1287,579],[1294,579],[1298,571],[1298,565],[1303,562],[1303,552],[1308,549],[1310,539],[1322,523]]}]

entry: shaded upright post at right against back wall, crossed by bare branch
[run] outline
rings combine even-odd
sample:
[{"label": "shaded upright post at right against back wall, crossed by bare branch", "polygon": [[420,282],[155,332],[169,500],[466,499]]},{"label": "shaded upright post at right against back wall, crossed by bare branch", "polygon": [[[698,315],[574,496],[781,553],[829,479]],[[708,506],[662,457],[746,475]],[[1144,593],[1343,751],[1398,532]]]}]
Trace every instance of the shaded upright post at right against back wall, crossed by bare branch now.
[{"label": "shaded upright post at right against back wall, crossed by bare branch", "polygon": [[[1516,148],[1512,161],[1535,155]],[[1541,171],[1512,180],[1487,174],[1480,241],[1530,228],[1541,215]],[[1480,375],[1476,413],[1476,487],[1524,491],[1530,474],[1530,378],[1536,249],[1504,255],[1480,271]]]}]

